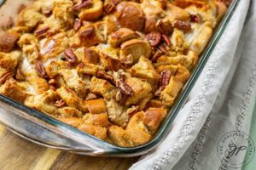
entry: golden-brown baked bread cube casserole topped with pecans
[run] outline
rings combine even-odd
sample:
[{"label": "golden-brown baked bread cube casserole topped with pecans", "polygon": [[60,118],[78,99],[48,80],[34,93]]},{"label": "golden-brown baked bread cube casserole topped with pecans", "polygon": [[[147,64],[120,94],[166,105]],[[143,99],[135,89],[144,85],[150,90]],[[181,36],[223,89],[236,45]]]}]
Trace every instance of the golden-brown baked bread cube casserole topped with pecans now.
[{"label": "golden-brown baked bread cube casserole topped with pecans", "polygon": [[230,1],[38,0],[0,35],[0,94],[122,147],[154,137]]}]

